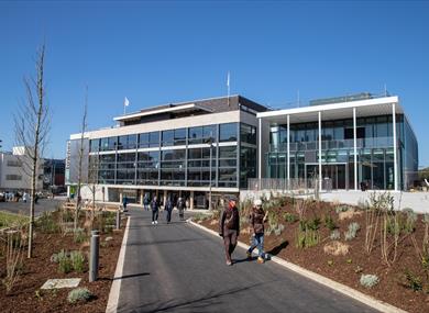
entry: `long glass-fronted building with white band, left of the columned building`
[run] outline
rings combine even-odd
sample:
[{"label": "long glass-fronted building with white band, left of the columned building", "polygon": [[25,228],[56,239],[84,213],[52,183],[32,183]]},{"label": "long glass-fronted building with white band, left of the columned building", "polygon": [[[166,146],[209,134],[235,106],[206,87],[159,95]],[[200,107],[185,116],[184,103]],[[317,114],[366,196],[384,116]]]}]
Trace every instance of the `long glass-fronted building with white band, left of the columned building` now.
[{"label": "long glass-fronted building with white band, left of the columned building", "polygon": [[[143,195],[184,197],[208,208],[209,194],[238,194],[256,177],[256,114],[267,109],[241,96],[144,109],[85,134],[85,181],[100,201],[142,202]],[[67,144],[69,193],[78,178],[80,134]],[[86,198],[86,197],[84,197]],[[88,197],[89,198],[89,197]]]}]

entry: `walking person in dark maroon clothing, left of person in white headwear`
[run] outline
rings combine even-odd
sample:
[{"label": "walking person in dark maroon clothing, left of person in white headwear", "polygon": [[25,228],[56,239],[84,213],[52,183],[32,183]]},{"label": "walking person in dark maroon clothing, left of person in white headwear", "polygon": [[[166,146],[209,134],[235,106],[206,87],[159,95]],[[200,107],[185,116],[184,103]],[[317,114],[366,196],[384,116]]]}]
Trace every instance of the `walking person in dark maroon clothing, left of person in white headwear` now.
[{"label": "walking person in dark maroon clothing, left of person in white headwear", "polygon": [[230,200],[219,221],[219,235],[223,237],[227,265],[232,265],[232,253],[240,235],[240,215],[234,200]]}]

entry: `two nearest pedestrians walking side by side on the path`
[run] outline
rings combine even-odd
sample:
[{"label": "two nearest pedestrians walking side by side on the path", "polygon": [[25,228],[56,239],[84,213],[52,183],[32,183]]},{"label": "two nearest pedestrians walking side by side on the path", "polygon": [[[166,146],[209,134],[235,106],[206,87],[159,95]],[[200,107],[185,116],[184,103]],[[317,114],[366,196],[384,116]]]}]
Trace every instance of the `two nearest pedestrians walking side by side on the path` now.
[{"label": "two nearest pedestrians walking side by side on the path", "polygon": [[[252,243],[246,251],[248,258],[252,259],[252,251],[257,247],[257,262],[265,261],[264,253],[264,223],[267,221],[267,213],[262,208],[262,201],[256,199],[249,216],[250,226],[252,227]],[[219,220],[219,235],[223,238],[224,253],[227,256],[227,265],[232,265],[232,253],[237,247],[238,237],[240,235],[240,214],[237,208],[235,200],[230,200],[228,205],[222,211]]]}]

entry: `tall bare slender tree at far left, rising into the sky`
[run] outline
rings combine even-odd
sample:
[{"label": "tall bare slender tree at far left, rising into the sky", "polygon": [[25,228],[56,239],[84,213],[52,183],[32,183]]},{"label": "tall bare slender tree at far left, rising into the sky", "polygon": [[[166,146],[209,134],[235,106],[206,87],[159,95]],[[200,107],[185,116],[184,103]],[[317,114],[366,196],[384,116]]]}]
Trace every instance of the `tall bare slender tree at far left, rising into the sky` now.
[{"label": "tall bare slender tree at far left, rising into the sky", "polygon": [[24,78],[26,98],[19,105],[14,115],[15,143],[23,147],[21,163],[22,170],[31,176],[30,226],[28,257],[32,257],[34,204],[36,182],[38,180],[41,158],[47,145],[51,128],[50,108],[45,101],[44,66],[45,44],[36,54],[36,77]]}]

